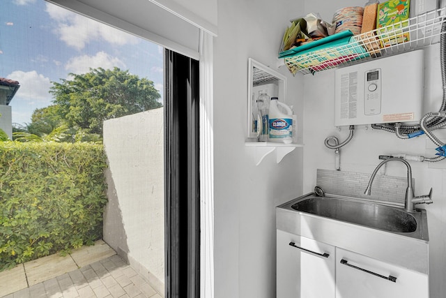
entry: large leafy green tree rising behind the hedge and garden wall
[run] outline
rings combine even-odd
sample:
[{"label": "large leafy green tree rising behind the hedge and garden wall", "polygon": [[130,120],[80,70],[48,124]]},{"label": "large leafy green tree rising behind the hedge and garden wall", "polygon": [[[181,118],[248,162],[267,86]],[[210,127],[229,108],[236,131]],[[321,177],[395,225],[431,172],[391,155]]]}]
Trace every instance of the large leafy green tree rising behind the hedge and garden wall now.
[{"label": "large leafy green tree rising behind the hedge and garden wall", "polygon": [[95,68],[70,75],[71,80],[53,82],[54,105],[37,110],[32,124],[45,129],[66,124],[102,135],[102,123],[107,119],[162,107],[153,82],[128,70]]}]

